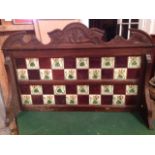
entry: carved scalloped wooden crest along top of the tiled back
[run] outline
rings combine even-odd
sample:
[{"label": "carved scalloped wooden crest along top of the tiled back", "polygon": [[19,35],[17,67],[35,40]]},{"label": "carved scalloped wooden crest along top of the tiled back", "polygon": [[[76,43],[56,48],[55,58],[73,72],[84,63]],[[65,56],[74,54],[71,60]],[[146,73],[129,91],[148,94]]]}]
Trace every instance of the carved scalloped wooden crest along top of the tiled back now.
[{"label": "carved scalloped wooden crest along top of the tiled back", "polygon": [[11,34],[3,44],[5,49],[52,49],[80,47],[126,47],[151,46],[152,40],[141,30],[131,29],[131,37],[126,40],[116,36],[109,42],[103,40],[104,31],[97,28],[87,28],[81,23],[72,23],[63,30],[56,29],[48,33],[51,41],[44,45],[37,40],[34,32],[18,32]]}]

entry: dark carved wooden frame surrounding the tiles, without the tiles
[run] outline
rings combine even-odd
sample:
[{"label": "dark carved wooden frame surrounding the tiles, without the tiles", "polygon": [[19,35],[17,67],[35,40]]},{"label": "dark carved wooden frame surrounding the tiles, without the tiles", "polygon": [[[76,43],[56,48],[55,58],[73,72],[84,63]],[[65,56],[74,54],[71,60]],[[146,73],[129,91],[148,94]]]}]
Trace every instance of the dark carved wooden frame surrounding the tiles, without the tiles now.
[{"label": "dark carved wooden frame surrounding the tiles, without the tiles", "polygon": [[[71,110],[71,111],[146,111],[147,120],[149,128],[153,128],[152,125],[152,109],[151,102],[148,99],[148,81],[152,76],[152,66],[153,66],[153,43],[148,34],[141,30],[131,30],[131,38],[125,40],[119,36],[116,36],[113,40],[105,42],[102,40],[104,38],[104,32],[97,28],[88,29],[80,23],[74,23],[67,25],[62,31],[55,30],[49,33],[51,42],[47,45],[41,44],[32,32],[19,32],[9,36],[3,45],[3,51],[6,58],[6,69],[8,73],[8,78],[10,82],[10,99],[9,103],[13,107],[15,117],[18,112],[22,110],[37,110],[37,111],[53,111],[53,110]],[[86,52],[83,53],[82,49]],[[97,51],[97,52],[96,52]],[[18,83],[14,67],[14,59],[21,58],[25,56],[119,56],[119,55],[140,55],[143,56],[143,75],[140,75],[141,85],[140,95],[139,95],[139,106],[132,107],[113,107],[111,105],[94,107],[94,106],[40,106],[35,107],[21,106],[18,92]],[[145,77],[144,77],[145,76]],[[109,80],[92,81],[92,83],[109,82]],[[28,81],[31,83],[32,81]],[[49,83],[48,81],[42,81],[44,83]],[[75,80],[74,83],[83,83],[82,80]],[[113,80],[112,83],[119,83],[120,81]],[[121,81],[122,82],[122,81]],[[126,80],[125,83],[137,83],[136,80]],[[27,83],[27,81],[23,82]],[[40,81],[33,81],[33,83],[40,84]],[[51,83],[51,82],[50,82]],[[69,81],[57,81],[53,80],[52,83],[70,83]],[[90,83],[90,81],[89,81]]]}]

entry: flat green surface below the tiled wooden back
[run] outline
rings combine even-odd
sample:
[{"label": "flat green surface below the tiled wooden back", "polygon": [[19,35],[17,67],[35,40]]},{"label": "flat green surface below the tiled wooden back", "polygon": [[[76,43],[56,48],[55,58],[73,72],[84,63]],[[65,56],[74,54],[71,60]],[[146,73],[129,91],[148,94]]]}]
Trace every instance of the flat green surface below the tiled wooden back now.
[{"label": "flat green surface below the tiled wooden back", "polygon": [[21,112],[20,135],[147,135],[140,115],[129,112]]}]

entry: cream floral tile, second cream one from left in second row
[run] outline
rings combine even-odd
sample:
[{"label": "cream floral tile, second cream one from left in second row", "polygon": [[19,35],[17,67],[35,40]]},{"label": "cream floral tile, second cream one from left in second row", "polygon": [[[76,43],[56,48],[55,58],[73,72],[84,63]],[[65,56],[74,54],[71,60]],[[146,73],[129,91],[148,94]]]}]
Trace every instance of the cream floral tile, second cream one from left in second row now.
[{"label": "cream floral tile, second cream one from left in second row", "polygon": [[41,80],[52,80],[52,71],[50,69],[40,69]]}]

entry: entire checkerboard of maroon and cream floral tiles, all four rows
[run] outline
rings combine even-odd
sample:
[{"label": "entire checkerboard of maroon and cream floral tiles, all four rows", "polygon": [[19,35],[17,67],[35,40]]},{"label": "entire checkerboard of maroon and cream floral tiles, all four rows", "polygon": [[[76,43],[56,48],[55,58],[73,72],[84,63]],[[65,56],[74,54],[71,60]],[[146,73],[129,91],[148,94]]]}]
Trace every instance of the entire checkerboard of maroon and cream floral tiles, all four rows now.
[{"label": "entire checkerboard of maroon and cream floral tiles, all four rows", "polygon": [[[139,79],[140,56],[16,58],[17,78],[22,104],[114,105],[124,106],[137,100],[138,84],[123,83]],[[90,81],[122,81],[119,84]],[[22,82],[31,80],[31,84]],[[40,84],[32,84],[37,80]],[[45,81],[71,81],[72,84],[45,84]],[[75,84],[84,80],[87,84]]]}]

